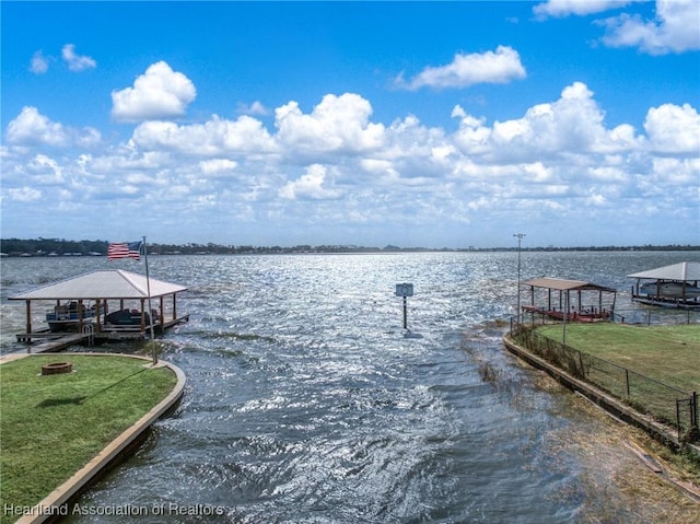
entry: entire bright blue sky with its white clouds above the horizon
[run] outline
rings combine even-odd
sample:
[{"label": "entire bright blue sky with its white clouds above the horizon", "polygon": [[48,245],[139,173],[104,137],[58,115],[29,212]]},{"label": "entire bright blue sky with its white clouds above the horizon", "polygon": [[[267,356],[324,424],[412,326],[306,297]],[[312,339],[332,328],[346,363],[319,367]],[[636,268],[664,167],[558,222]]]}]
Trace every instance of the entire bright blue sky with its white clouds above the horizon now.
[{"label": "entire bright blue sky with its white clouds above the horizon", "polygon": [[700,3],[14,2],[2,237],[700,244]]}]

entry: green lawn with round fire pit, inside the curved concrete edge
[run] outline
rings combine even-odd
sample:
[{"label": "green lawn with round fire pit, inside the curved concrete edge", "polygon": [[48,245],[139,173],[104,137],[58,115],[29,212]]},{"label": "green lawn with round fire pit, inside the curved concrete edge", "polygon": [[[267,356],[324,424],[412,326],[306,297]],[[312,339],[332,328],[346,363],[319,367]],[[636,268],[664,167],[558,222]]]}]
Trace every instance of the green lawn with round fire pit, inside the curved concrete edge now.
[{"label": "green lawn with round fire pit, inside the curved concrete edge", "polygon": [[[42,364],[73,373],[42,375]],[[175,386],[166,368],[115,356],[32,356],[0,365],[0,506],[31,506],[70,478]],[[0,523],[16,517],[0,514]]]}]

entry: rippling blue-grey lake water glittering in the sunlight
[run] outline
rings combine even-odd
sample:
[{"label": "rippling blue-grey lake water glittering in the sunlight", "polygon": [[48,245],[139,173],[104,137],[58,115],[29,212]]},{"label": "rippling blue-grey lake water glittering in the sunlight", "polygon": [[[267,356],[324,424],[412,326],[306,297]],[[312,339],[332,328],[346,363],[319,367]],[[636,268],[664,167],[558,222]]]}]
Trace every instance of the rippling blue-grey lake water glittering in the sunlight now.
[{"label": "rippling blue-grey lake water glittering in the sunlight", "polygon": [[[646,318],[626,275],[682,260],[700,253],[523,253],[522,278],[612,287],[619,310]],[[516,253],[149,263],[153,278],[189,288],[178,312],[190,322],[160,339],[162,358],[188,377],[186,393],[137,455],[80,502],[149,511],[69,522],[561,523],[580,522],[592,498],[610,496],[583,486],[575,451],[551,445],[596,422],[538,388],[536,373],[503,350]],[[9,295],[101,268],[143,272],[132,260],[3,259],[2,352],[24,350],[14,341],[24,304]],[[412,337],[394,295],[400,282],[415,287]],[[499,384],[481,379],[485,361]],[[610,505],[623,520],[625,500]]]}]

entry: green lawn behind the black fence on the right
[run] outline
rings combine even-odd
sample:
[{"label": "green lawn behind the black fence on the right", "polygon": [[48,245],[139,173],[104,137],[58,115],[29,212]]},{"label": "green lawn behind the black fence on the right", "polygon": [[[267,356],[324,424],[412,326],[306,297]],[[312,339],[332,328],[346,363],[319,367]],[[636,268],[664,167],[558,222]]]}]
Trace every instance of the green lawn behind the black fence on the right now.
[{"label": "green lawn behind the black fence on the right", "polygon": [[[537,331],[562,340],[562,325]],[[568,324],[567,345],[677,387],[700,393],[700,325]]]}]

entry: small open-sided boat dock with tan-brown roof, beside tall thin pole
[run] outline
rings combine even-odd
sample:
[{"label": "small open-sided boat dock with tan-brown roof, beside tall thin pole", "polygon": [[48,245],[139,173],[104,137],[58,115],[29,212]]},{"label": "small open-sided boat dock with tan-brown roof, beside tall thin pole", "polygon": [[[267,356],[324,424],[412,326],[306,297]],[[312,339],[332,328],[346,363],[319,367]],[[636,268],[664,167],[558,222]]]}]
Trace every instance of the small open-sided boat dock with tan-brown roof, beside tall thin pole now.
[{"label": "small open-sided boat dock with tan-brown roof, beside tall thin pole", "polygon": [[530,296],[523,310],[532,314],[567,322],[599,322],[611,318],[615,312],[617,291],[612,288],[551,277],[526,280],[523,286],[529,287]]}]

